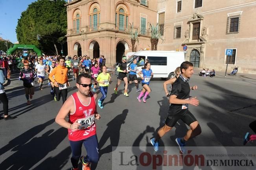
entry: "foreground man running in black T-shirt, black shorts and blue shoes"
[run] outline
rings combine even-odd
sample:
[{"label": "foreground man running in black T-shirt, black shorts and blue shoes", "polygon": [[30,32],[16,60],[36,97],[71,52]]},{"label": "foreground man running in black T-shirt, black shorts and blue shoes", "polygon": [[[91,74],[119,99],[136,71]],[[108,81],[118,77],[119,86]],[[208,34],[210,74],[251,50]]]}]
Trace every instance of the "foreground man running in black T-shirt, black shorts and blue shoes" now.
[{"label": "foreground man running in black T-shirt, black shorts and blue shoes", "polygon": [[176,138],[175,140],[179,145],[180,152],[186,152],[185,142],[188,141],[188,139],[191,139],[201,133],[199,122],[188,110],[188,104],[192,104],[193,106],[199,105],[199,101],[196,97],[190,97],[190,90],[196,90],[197,86],[190,87],[188,84],[188,80],[194,73],[193,64],[188,61],[182,62],[180,65],[180,71],[181,74],[173,83],[173,88],[171,90],[169,99],[171,106],[169,107],[165,125],[158,130],[157,136],[150,140],[155,151],[158,151],[158,140],[163,137],[165,133],[169,132],[179,119],[190,126],[190,129],[183,138]]}]

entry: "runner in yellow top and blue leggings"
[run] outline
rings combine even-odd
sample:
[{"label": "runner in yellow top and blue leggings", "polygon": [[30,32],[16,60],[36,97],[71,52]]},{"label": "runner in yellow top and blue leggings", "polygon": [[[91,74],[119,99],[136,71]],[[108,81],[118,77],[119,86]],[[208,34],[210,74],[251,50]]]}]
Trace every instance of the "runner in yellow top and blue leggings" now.
[{"label": "runner in yellow top and blue leggings", "polygon": [[98,106],[103,109],[103,101],[107,97],[107,91],[109,82],[111,81],[111,76],[109,73],[107,73],[107,67],[102,66],[102,73],[100,73],[97,77],[97,82],[99,82],[99,90],[102,94],[101,98],[98,100]]}]

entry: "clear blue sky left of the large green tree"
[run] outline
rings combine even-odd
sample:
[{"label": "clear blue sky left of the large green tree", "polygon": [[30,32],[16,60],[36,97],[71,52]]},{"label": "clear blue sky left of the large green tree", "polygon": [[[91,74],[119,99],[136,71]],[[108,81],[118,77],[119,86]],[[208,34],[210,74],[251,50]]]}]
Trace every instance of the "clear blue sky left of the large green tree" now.
[{"label": "clear blue sky left of the large green tree", "polygon": [[35,1],[37,0],[0,0],[0,37],[12,43],[18,41],[15,31],[18,19],[28,5]]}]

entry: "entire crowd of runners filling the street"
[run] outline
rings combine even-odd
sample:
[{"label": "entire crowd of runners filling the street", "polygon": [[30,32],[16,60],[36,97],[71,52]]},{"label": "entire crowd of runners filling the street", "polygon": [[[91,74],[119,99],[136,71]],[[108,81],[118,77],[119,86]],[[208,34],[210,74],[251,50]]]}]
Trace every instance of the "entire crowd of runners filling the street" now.
[{"label": "entire crowd of runners filling the street", "polygon": [[[8,69],[10,71],[17,71],[19,69],[19,79],[23,81],[27,104],[32,102],[29,99],[33,98],[36,83],[39,84],[41,90],[44,89],[44,79],[47,75],[48,84],[45,85],[51,86],[49,92],[53,95],[53,99],[59,101],[62,97],[63,106],[59,110],[55,121],[68,129],[68,139],[72,149],[72,170],[78,170],[79,160],[83,165],[83,170],[95,169],[99,161],[100,148],[94,120],[101,118],[97,112],[97,102],[99,108],[103,109],[103,102],[107,97],[109,82],[112,78],[105,66],[104,56],[101,56],[101,59],[96,58],[92,60],[86,55],[80,58],[76,55],[72,58],[60,56],[18,58],[20,62],[15,62],[15,65],[13,63],[12,66],[9,64]],[[147,96],[151,92],[149,87],[150,81],[153,78],[150,61],[147,60],[142,70],[139,71],[136,59],[133,60],[128,70],[126,60],[127,57],[123,56],[122,62],[117,66],[117,71],[119,72],[118,80],[112,92],[118,94],[118,87],[123,81],[125,87],[123,95],[129,97],[127,89],[134,82],[136,91],[139,92],[138,97],[136,97],[138,102],[146,103]],[[70,76],[71,71],[74,73],[72,80],[76,80],[78,90],[67,99],[67,89],[70,86],[68,76]],[[127,77],[128,72],[129,77]],[[142,79],[142,88],[139,88],[137,74]],[[186,141],[201,133],[199,122],[188,109],[189,104],[193,106],[199,105],[197,98],[190,96],[190,90],[197,90],[197,86],[190,86],[188,83],[193,74],[193,64],[188,61],[182,62],[180,67],[175,70],[175,74],[175,77],[163,84],[164,91],[166,96],[169,97],[171,105],[169,106],[168,117],[165,120],[164,126],[150,140],[156,152],[159,150],[159,139],[169,132],[180,119],[190,127],[184,137],[178,137],[175,140],[181,153],[186,153]],[[4,119],[10,120],[13,117],[8,116],[8,99],[3,87],[5,78],[4,71],[0,70],[0,100],[4,104]],[[171,93],[167,91],[167,84],[172,84]],[[97,100],[98,95],[95,92],[98,85],[102,95]],[[67,117],[68,120],[66,119]],[[255,123],[250,126],[255,128]],[[244,144],[254,139],[255,135],[247,133]],[[82,145],[87,150],[87,156],[81,156]]]}]

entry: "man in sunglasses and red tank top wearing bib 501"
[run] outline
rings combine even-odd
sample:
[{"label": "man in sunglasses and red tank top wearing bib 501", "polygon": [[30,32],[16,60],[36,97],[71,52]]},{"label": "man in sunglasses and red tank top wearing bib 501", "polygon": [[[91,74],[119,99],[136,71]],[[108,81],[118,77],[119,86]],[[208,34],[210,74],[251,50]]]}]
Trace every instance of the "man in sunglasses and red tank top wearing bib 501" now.
[{"label": "man in sunglasses and red tank top wearing bib 501", "polygon": [[[99,146],[96,135],[94,119],[99,120],[96,99],[97,94],[92,93],[92,80],[90,75],[82,73],[77,77],[78,91],[73,93],[59,110],[55,121],[68,129],[68,139],[72,150],[72,170],[78,170],[79,159],[83,170],[95,169],[99,161]],[[70,113],[68,122],[66,115]],[[81,156],[82,145],[85,146],[87,156]]]}]

